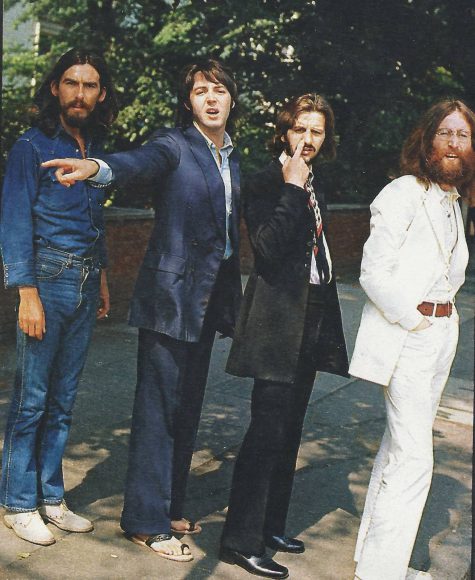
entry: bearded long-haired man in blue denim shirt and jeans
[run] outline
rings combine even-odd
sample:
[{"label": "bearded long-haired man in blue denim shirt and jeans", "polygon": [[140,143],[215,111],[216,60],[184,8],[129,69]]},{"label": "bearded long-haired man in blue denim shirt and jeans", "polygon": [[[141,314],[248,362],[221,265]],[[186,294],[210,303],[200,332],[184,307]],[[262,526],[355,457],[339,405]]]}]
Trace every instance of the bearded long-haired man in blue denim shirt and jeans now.
[{"label": "bearded long-haired man in blue denim shirt and jeans", "polygon": [[36,126],[10,152],[2,195],[5,286],[18,288],[19,308],[0,502],[17,536],[48,545],[55,539],[44,521],[93,529],[64,502],[62,457],[94,321],[107,315],[109,296],[104,190],[65,190],[41,163],[98,153],[118,109],[104,60],[82,49],[59,59],[35,105]]}]

